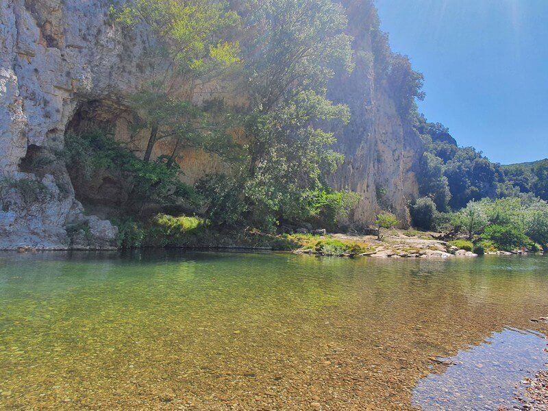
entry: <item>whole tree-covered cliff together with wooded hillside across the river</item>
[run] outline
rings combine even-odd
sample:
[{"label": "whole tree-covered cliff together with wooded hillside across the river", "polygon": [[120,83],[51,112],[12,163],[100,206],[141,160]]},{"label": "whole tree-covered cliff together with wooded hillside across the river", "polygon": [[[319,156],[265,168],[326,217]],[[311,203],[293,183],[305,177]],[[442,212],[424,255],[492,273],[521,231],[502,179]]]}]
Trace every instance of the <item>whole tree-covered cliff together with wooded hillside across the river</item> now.
[{"label": "whole tree-covered cliff together with wooded hillside across the river", "polygon": [[287,248],[410,224],[546,247],[547,162],[501,166],[429,123],[370,0],[53,3],[5,12],[0,248]]}]

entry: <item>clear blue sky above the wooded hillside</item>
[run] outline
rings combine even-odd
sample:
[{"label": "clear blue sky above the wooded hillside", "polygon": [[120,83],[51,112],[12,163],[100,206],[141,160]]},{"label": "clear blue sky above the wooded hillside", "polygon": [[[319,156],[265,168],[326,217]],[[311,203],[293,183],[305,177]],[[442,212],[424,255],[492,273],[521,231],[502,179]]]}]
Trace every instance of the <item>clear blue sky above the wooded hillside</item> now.
[{"label": "clear blue sky above the wooded hillside", "polygon": [[495,162],[548,157],[548,0],[376,0],[429,121]]}]

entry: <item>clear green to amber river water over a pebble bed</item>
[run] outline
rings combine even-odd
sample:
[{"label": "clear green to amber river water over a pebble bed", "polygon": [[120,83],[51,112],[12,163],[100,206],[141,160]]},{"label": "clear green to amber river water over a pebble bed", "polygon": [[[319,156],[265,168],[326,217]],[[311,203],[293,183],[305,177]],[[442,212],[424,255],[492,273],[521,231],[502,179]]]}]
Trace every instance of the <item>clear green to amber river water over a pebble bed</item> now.
[{"label": "clear green to amber river water over a pebble bed", "polygon": [[5,253],[0,409],[406,409],[547,315],[542,257]]}]

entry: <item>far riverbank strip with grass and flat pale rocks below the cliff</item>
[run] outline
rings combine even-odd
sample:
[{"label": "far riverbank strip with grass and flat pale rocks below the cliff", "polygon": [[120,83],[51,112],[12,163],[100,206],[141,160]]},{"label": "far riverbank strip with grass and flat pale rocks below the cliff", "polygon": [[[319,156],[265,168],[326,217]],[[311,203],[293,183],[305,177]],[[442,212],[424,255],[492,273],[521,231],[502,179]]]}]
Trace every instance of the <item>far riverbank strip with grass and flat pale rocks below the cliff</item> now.
[{"label": "far riverbank strip with grass and flat pale rocks below the cliff", "polygon": [[[120,247],[101,249],[139,249],[152,247],[207,250],[291,251],[310,256],[346,258],[475,258],[466,241],[439,240],[440,234],[415,230],[390,229],[379,239],[376,235],[309,233],[268,234],[258,230],[216,231],[201,225],[165,225],[149,232],[130,232],[121,237]],[[462,248],[465,247],[465,248]],[[95,247],[68,247],[73,251],[94,251]],[[21,245],[19,252],[66,251]],[[525,255],[525,251],[486,251],[486,254]],[[541,253],[540,253],[541,254]]]}]

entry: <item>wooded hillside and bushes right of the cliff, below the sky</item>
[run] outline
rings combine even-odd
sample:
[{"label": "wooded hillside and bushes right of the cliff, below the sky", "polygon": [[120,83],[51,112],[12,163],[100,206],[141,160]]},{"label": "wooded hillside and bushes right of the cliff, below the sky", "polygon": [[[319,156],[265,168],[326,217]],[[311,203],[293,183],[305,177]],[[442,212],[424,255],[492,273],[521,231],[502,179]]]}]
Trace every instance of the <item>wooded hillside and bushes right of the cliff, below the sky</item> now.
[{"label": "wooded hillside and bushes right of the cliff, below the sky", "polygon": [[414,226],[466,236],[479,253],[547,249],[547,161],[501,166],[459,147],[447,127],[424,116],[416,116],[416,129],[425,153],[422,197],[410,203]]}]

